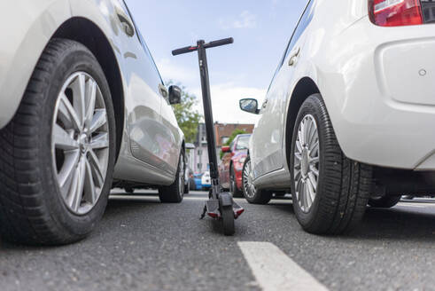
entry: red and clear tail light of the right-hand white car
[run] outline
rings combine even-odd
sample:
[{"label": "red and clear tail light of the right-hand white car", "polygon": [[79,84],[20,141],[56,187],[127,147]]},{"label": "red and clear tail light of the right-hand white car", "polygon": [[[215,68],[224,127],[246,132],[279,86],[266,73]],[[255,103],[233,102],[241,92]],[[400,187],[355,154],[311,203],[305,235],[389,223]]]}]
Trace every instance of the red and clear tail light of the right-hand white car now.
[{"label": "red and clear tail light of the right-hand white car", "polygon": [[381,27],[423,24],[420,0],[369,0],[371,20]]}]

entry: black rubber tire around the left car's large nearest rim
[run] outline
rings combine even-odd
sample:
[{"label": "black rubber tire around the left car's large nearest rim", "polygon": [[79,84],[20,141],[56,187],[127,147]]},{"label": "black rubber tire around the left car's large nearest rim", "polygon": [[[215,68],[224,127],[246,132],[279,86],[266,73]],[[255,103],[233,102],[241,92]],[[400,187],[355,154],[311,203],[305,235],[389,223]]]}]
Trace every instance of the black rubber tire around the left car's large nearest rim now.
[{"label": "black rubber tire around the left car's large nearest rim", "polygon": [[[66,39],[50,40],[35,66],[16,114],[0,130],[0,233],[4,240],[27,245],[71,243],[85,238],[104,214],[112,184],[113,151],[101,199],[97,202],[98,209],[91,211],[92,217],[89,215],[80,218],[81,225],[86,227],[79,227],[68,224],[66,216],[62,217],[65,212],[53,213],[58,209],[54,210],[54,202],[48,201],[50,195],[47,191],[55,189],[55,182],[44,178],[46,168],[40,160],[43,153],[36,146],[51,126],[50,123],[43,122],[42,116],[42,108],[48,106],[44,104],[48,98],[45,89],[52,82],[52,73],[62,66],[65,69],[64,64],[59,64],[59,59],[65,57],[66,53],[75,51],[80,51],[92,61],[92,64],[88,63],[89,66],[100,74],[99,78],[104,78],[104,83],[100,86],[106,86],[106,90],[109,88],[97,59],[86,47]],[[110,91],[108,94],[108,98],[111,98]],[[112,104],[106,105],[106,109],[108,114],[114,114]],[[108,120],[109,118],[111,117],[108,116]],[[114,122],[114,115],[112,118]],[[111,146],[115,146],[114,132],[111,131]],[[72,222],[71,219],[69,222]]]}]

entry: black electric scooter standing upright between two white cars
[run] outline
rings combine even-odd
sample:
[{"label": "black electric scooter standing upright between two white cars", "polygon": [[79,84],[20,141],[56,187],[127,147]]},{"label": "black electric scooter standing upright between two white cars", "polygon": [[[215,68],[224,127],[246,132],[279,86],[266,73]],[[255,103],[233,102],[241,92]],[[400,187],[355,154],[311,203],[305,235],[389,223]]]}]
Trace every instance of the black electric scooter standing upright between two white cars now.
[{"label": "black electric scooter standing upright between two white cars", "polygon": [[208,65],[206,57],[206,49],[214,48],[221,45],[233,43],[232,37],[221,39],[218,41],[206,43],[199,40],[197,45],[187,46],[182,49],[172,51],[172,55],[180,55],[183,53],[198,51],[199,72],[201,75],[202,99],[204,104],[204,117],[206,120],[206,136],[208,147],[208,160],[210,163],[210,177],[212,187],[208,194],[209,200],[206,201],[206,206],[201,215],[203,219],[206,215],[217,219],[223,223],[223,233],[225,235],[233,235],[235,232],[234,220],[240,216],[245,209],[239,206],[234,200],[231,193],[223,192],[219,181],[219,172],[217,168],[216,141],[214,138],[213,129],[213,110],[210,94],[210,81],[208,77]]}]

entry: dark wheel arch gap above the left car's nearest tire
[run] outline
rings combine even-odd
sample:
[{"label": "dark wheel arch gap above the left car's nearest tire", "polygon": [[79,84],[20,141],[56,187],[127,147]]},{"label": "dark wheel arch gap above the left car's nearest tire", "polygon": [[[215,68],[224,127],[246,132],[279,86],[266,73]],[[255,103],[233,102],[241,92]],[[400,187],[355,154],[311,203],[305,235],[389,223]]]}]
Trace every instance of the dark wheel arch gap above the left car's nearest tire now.
[{"label": "dark wheel arch gap above the left car's nearest tire", "polygon": [[94,22],[82,17],[66,20],[52,37],[66,38],[82,43],[94,54],[102,67],[113,100],[116,124],[116,159],[118,159],[124,131],[125,103],[120,67],[111,43]]}]

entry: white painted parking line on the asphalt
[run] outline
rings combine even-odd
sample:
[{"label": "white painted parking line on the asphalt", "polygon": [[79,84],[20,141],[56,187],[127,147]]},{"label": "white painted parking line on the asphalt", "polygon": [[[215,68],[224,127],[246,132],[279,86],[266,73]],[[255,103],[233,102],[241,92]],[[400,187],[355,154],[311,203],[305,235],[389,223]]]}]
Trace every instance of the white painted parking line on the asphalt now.
[{"label": "white painted parking line on the asphalt", "polygon": [[239,241],[237,244],[264,291],[328,290],[276,245],[260,241]]}]

